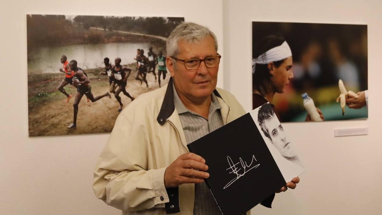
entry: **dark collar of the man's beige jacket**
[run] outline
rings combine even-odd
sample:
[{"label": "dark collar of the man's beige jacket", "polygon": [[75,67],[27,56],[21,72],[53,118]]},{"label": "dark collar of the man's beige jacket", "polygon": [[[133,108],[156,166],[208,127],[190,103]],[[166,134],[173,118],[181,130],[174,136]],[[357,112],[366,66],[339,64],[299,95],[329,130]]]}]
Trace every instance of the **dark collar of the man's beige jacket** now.
[{"label": "dark collar of the man's beige jacket", "polygon": [[[171,77],[170,80],[168,80],[165,98],[163,99],[162,106],[157,117],[157,121],[160,125],[164,125],[168,117],[170,117],[175,110],[174,93],[172,85],[173,80]],[[219,92],[216,89],[214,90],[214,94],[215,96],[222,99],[222,96],[220,96]]]}]

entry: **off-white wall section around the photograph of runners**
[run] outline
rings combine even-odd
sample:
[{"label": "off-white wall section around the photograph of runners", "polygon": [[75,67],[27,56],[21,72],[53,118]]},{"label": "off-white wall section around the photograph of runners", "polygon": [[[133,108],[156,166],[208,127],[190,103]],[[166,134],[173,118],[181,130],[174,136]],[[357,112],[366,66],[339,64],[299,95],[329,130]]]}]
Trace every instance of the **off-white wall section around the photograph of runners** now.
[{"label": "off-white wall section around the photograph of runners", "polygon": [[[223,54],[220,0],[2,1],[0,214],[120,214],[94,197],[95,160],[108,134],[28,137],[26,14],[183,16],[208,26]],[[220,70],[219,86],[223,86]]]}]

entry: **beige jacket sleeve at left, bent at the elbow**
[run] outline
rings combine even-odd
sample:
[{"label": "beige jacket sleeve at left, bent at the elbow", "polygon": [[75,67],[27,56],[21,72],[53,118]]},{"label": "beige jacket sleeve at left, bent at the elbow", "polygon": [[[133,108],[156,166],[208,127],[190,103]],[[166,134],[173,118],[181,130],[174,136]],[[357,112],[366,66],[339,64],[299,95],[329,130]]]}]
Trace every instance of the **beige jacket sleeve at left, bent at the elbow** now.
[{"label": "beige jacket sleeve at left, bent at the elbow", "polygon": [[165,207],[169,202],[163,181],[166,168],[147,168],[145,127],[133,125],[121,113],[95,167],[95,196],[123,211]]}]

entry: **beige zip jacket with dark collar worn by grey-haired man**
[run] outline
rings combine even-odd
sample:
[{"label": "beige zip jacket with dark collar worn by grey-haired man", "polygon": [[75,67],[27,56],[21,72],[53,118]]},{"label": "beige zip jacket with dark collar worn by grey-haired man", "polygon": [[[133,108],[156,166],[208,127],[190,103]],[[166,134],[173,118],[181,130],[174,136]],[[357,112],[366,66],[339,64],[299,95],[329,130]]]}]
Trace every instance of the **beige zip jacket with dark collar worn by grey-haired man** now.
[{"label": "beige zip jacket with dark collar worn by grey-haired man", "polygon": [[[232,94],[214,93],[224,124],[245,114]],[[163,182],[167,166],[189,152],[186,144],[170,80],[167,87],[139,96],[118,116],[94,171],[96,197],[125,215],[164,215],[176,208],[177,214],[193,215],[194,184],[179,186],[172,198]]]}]

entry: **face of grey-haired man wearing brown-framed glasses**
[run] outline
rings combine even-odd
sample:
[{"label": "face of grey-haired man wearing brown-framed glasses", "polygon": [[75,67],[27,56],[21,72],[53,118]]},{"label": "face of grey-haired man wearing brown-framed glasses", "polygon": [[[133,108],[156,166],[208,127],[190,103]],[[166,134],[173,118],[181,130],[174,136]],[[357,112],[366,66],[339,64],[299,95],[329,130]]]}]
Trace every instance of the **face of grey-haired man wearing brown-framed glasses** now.
[{"label": "face of grey-haired man wearing brown-framed glasses", "polygon": [[[216,57],[215,40],[212,36],[204,37],[200,42],[186,42],[180,40],[178,43],[179,54],[174,56],[178,59],[205,59],[206,57]],[[188,70],[183,62],[176,60],[176,67],[172,58],[167,58],[166,65],[174,79],[176,90],[179,94],[188,99],[206,99],[216,88],[217,73],[219,66],[207,68],[201,62],[199,68]]]}]

